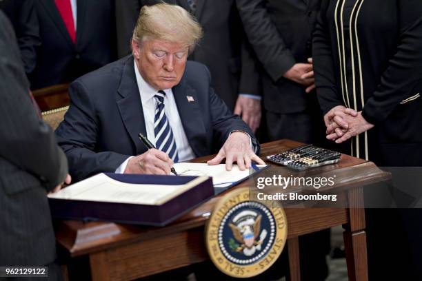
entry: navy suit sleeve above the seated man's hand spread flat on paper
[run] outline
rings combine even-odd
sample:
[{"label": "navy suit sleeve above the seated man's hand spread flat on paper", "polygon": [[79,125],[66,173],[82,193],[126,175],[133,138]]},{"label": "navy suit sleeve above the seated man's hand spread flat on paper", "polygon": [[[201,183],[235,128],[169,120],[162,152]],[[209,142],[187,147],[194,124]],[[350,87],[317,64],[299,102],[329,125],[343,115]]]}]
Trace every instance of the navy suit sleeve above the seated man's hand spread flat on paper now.
[{"label": "navy suit sleeve above the seated man's hand spread flat on paper", "polygon": [[[205,66],[204,66],[205,67]],[[211,81],[211,75],[207,67],[205,69],[208,72],[208,77]],[[250,130],[250,127],[246,125],[245,122],[241,121],[241,118],[238,115],[232,114],[225,105],[224,101],[221,100],[215,94],[212,87],[209,88],[210,93],[210,112],[212,114],[212,131],[214,136],[213,143],[217,147],[222,147],[228,136],[233,131],[243,131],[251,137],[252,146],[257,154],[259,154],[259,142],[255,138],[254,133]]]}]

